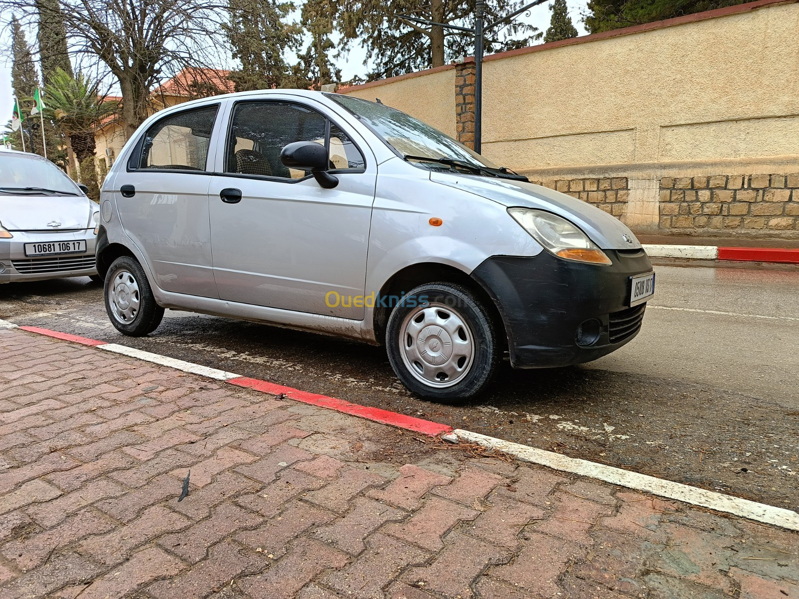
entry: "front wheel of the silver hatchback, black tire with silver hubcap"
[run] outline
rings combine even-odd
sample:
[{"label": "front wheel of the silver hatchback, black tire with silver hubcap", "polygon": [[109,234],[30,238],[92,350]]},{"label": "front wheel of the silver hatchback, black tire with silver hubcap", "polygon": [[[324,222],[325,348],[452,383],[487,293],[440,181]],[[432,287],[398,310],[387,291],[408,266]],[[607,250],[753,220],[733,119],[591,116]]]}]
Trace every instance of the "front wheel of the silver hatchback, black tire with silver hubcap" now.
[{"label": "front wheel of the silver hatchback, black tire with silver hubcap", "polygon": [[[450,321],[453,315],[456,319]],[[443,323],[449,331],[437,323]],[[409,332],[414,326],[418,333]],[[465,347],[470,339],[471,345]],[[456,343],[465,348],[455,349]],[[447,345],[452,348],[448,355]],[[413,359],[419,348],[423,348],[416,354],[419,359]],[[478,395],[491,383],[501,357],[497,332],[486,308],[469,289],[452,283],[419,285],[403,296],[388,317],[386,351],[405,387],[441,403],[461,403]],[[471,351],[471,358],[456,359],[461,351]],[[441,368],[462,370],[450,376],[436,371],[439,365],[435,361],[441,362]]]}]

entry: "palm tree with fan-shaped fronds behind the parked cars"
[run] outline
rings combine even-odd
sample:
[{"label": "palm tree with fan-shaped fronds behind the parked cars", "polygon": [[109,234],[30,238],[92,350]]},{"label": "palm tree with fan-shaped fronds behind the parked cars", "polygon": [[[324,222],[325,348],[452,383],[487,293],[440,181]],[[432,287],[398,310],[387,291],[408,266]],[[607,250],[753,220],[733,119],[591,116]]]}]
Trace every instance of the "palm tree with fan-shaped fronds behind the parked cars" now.
[{"label": "palm tree with fan-shaped fronds behind the parked cars", "polygon": [[74,77],[57,69],[46,89],[46,116],[69,139],[78,159],[80,180],[89,187],[89,197],[97,200],[97,169],[94,134],[102,121],[117,113],[116,101],[106,101],[100,82],[78,71]]}]

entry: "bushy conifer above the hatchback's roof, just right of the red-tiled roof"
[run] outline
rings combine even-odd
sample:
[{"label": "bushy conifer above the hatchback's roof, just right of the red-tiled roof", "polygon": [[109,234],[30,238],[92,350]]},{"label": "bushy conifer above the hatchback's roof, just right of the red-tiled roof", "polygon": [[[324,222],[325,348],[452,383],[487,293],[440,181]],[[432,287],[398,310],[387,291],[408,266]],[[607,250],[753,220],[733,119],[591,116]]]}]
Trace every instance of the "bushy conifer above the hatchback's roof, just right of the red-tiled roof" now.
[{"label": "bushy conifer above the hatchback's roof, just right of the red-tiled roof", "polygon": [[293,2],[229,0],[230,22],[225,34],[233,58],[241,63],[229,77],[237,91],[286,85],[290,67],[283,51],[299,50],[302,41],[300,26],[285,22],[294,8]]}]

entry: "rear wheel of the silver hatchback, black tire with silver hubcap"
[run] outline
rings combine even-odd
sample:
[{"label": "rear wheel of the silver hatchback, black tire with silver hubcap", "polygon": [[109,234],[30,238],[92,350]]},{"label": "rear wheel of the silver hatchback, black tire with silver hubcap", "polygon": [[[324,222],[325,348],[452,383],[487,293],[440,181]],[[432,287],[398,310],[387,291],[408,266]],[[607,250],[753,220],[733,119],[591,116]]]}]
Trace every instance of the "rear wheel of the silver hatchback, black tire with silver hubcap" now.
[{"label": "rear wheel of the silver hatchback, black tire with silver hubcap", "polygon": [[[120,288],[117,286],[125,285]],[[128,291],[125,292],[125,289]],[[135,289],[135,291],[133,291]],[[125,294],[129,299],[125,307]],[[120,256],[105,273],[105,311],[117,331],[131,337],[143,337],[156,330],[164,317],[144,269],[135,258]],[[135,310],[131,306],[137,305]],[[125,314],[123,314],[125,311]],[[125,318],[127,316],[127,318]]]}]

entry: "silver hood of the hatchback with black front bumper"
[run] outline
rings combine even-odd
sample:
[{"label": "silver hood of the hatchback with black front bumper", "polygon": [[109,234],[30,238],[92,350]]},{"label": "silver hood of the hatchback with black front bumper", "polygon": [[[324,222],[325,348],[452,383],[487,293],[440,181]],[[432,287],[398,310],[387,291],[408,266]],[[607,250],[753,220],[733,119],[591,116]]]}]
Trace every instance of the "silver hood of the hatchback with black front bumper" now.
[{"label": "silver hood of the hatchback with black front bumper", "polygon": [[[641,248],[641,243],[621,220],[582,200],[542,185],[510,179],[449,173],[431,173],[430,179],[436,183],[494,200],[508,208],[522,206],[523,208],[538,208],[553,212],[576,224],[594,244],[602,249]],[[625,236],[630,241],[626,240]]]}]

